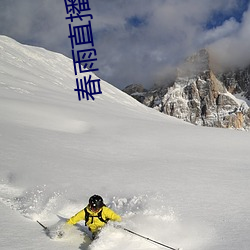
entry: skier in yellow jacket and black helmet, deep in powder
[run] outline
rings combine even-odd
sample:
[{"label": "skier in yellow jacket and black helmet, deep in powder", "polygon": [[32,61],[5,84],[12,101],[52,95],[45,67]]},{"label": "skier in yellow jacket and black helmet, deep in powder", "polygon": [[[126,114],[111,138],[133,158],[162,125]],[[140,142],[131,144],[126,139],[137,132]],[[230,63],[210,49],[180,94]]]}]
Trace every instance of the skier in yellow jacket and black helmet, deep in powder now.
[{"label": "skier in yellow jacket and black helmet, deep in powder", "polygon": [[85,220],[85,225],[92,232],[94,239],[99,230],[104,227],[109,220],[120,222],[122,219],[113,210],[104,205],[101,196],[93,195],[89,198],[88,206],[72,216],[67,221],[67,224],[74,225],[80,220]]}]

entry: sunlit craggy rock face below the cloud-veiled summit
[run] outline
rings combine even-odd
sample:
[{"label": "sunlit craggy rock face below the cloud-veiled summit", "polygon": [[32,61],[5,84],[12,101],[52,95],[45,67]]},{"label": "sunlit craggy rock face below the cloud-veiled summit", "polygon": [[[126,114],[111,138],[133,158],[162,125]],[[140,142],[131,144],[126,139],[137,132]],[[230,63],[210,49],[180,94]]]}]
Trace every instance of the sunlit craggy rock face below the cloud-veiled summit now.
[{"label": "sunlit craggy rock face below the cloud-veiled summit", "polygon": [[178,79],[161,105],[164,113],[197,125],[239,129],[249,126],[248,106],[240,104],[213,77]]}]

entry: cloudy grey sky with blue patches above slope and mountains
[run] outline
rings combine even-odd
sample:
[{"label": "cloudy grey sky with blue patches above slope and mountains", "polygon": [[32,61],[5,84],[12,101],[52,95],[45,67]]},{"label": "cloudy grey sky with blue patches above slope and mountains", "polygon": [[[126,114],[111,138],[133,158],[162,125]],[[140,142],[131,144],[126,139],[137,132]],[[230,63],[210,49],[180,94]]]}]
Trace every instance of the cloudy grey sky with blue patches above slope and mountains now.
[{"label": "cloudy grey sky with blue patches above slope and mountains", "polygon": [[[173,69],[201,48],[210,48],[223,65],[250,62],[249,0],[89,0],[89,5],[95,73],[120,89],[167,82]],[[0,0],[0,34],[71,57],[66,15],[62,0]],[[90,19],[83,20],[74,24]]]}]

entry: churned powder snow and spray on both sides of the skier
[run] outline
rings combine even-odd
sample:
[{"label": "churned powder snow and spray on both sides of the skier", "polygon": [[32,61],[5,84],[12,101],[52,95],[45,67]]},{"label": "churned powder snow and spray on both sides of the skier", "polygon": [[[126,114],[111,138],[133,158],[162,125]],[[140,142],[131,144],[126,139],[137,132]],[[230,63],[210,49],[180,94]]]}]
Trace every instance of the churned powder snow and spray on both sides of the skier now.
[{"label": "churned powder snow and spray on both sides of the skier", "polygon": [[[172,208],[164,205],[161,195],[141,195],[130,198],[107,198],[107,206],[117,211],[122,217],[123,227],[128,228],[145,237],[159,241],[171,247],[185,245],[184,249],[198,249],[199,244],[204,244],[199,239],[199,227],[190,227],[179,220]],[[141,237],[130,234],[122,229],[117,229],[113,223],[107,225],[100,233],[99,238],[91,242],[84,222],[67,229],[62,239],[57,238],[57,231],[63,228],[65,220],[60,220],[57,214],[70,217],[82,204],[66,200],[62,193],[51,193],[46,185],[35,187],[31,190],[21,190],[10,183],[0,184],[0,201],[20,216],[36,222],[45,222],[50,229],[50,237],[62,241],[71,247],[79,246],[82,250],[108,250],[123,247],[124,241],[128,244],[126,249],[162,249],[161,246],[147,241]],[[83,208],[83,207],[81,207]],[[80,209],[81,209],[80,208]],[[201,228],[204,231],[204,228]],[[187,230],[187,231],[186,231]],[[188,232],[189,230],[189,232]],[[197,237],[198,236],[198,237]],[[122,239],[122,241],[121,241]],[[165,239],[166,242],[162,242]],[[188,239],[188,242],[186,241]],[[123,243],[121,243],[123,242]]]}]

